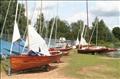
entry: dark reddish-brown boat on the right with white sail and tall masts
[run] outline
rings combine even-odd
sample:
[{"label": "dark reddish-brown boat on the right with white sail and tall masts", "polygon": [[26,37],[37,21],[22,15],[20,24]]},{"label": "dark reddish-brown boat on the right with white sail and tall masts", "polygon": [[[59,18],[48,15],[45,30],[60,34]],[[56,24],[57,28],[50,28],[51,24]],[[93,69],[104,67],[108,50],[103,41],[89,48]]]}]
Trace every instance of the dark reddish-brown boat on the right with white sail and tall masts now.
[{"label": "dark reddish-brown boat on the right with white sail and tall masts", "polygon": [[[87,26],[89,26],[89,23],[88,23],[89,22],[89,20],[88,20],[89,19],[88,18],[88,1],[86,1],[86,10],[87,10]],[[98,20],[96,20],[95,26],[96,26],[96,29],[98,29]],[[81,40],[80,40],[80,45],[78,47],[78,53],[84,53],[84,54],[99,53],[99,54],[101,54],[101,53],[107,53],[107,52],[111,52],[111,51],[117,51],[117,49],[115,49],[115,48],[107,48],[104,46],[97,46],[97,44],[96,44],[96,46],[88,44],[83,37],[84,30],[85,30],[85,26],[83,27],[83,30],[81,33]],[[97,43],[97,34],[98,34],[98,31],[96,31],[96,43]],[[91,36],[91,38],[92,38],[92,36]],[[91,41],[91,38],[90,38],[90,41]]]}]

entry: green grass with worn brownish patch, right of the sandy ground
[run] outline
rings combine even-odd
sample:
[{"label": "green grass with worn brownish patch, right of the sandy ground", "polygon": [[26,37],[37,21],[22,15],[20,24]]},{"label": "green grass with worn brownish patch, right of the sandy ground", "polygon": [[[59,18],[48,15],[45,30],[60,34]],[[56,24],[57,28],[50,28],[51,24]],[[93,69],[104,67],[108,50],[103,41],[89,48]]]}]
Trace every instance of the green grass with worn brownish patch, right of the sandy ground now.
[{"label": "green grass with worn brownish patch, right of the sandy ground", "polygon": [[65,75],[78,79],[120,79],[120,59],[72,53]]}]

